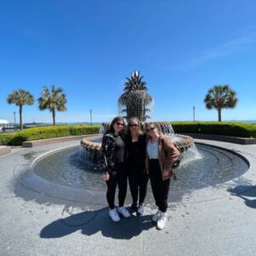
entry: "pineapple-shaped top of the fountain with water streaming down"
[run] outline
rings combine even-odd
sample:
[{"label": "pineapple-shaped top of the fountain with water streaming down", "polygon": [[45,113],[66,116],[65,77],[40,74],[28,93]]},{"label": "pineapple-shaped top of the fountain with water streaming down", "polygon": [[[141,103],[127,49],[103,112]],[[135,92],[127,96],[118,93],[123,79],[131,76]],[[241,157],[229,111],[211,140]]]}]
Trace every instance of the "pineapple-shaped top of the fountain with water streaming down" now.
[{"label": "pineapple-shaped top of the fountain with water streaming down", "polygon": [[119,107],[121,113],[125,113],[125,119],[137,117],[141,121],[150,118],[147,115],[148,104],[153,102],[152,97],[148,94],[146,82],[143,82],[143,76],[140,72],[131,73],[131,78],[126,78],[124,93],[119,97]]}]

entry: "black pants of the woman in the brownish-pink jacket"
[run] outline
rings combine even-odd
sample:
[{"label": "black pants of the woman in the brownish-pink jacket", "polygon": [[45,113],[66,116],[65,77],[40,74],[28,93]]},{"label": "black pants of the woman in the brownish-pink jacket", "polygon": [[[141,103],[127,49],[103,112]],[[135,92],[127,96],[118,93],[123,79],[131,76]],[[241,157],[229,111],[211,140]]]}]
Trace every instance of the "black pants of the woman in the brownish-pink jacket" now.
[{"label": "black pants of the woman in the brownish-pink jacket", "polygon": [[163,180],[159,160],[149,160],[149,177],[155,204],[161,212],[166,212],[170,178]]}]

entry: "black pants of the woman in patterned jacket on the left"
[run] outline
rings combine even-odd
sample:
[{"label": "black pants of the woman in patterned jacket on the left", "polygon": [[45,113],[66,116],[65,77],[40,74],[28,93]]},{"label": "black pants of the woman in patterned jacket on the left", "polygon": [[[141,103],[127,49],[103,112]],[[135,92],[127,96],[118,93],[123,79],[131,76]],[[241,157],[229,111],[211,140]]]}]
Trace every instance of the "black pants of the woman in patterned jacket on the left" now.
[{"label": "black pants of the woman in patterned jacket on the left", "polygon": [[109,179],[106,183],[108,186],[107,201],[109,208],[114,208],[114,195],[117,185],[119,187],[119,207],[123,207],[127,192],[127,172],[123,162],[115,164],[113,172],[109,172]]}]

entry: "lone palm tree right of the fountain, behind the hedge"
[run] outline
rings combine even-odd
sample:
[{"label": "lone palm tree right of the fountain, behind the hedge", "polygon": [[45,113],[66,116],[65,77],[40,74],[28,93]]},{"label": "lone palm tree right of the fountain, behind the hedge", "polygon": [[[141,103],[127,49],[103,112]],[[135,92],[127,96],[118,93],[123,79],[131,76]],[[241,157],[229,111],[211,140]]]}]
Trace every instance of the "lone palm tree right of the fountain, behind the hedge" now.
[{"label": "lone palm tree right of the fountain, behind the hedge", "polygon": [[230,89],[228,84],[215,85],[207,91],[204,99],[207,109],[216,108],[218,110],[218,122],[221,122],[221,110],[223,108],[235,108],[237,101],[236,91]]}]

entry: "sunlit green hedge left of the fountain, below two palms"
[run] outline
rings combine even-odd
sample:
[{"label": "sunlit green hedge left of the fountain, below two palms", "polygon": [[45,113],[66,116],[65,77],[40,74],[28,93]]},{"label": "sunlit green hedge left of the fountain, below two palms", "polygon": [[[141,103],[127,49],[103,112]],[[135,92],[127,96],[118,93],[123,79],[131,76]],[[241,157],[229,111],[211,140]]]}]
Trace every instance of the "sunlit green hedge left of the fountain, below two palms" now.
[{"label": "sunlit green hedge left of the fountain, below two palms", "polygon": [[75,135],[96,134],[99,126],[47,126],[29,128],[18,131],[9,140],[9,145],[19,146],[26,141],[36,141],[52,137],[67,137]]}]

